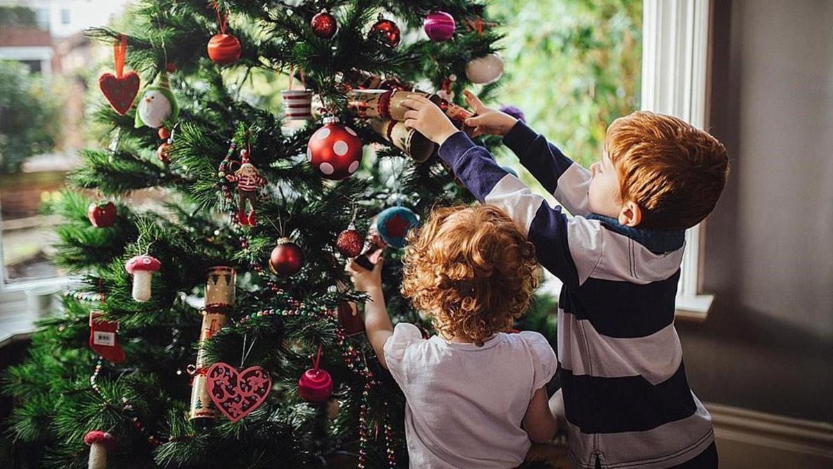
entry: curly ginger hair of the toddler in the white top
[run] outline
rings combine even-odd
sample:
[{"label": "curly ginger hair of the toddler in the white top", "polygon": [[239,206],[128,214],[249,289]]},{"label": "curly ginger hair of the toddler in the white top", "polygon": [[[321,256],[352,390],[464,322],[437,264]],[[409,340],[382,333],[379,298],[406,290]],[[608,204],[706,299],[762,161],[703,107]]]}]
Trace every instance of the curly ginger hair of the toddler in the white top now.
[{"label": "curly ginger hair of the toddler in the white top", "polygon": [[402,295],[442,336],[483,345],[529,305],[535,246],[496,206],[435,208],[408,241]]}]

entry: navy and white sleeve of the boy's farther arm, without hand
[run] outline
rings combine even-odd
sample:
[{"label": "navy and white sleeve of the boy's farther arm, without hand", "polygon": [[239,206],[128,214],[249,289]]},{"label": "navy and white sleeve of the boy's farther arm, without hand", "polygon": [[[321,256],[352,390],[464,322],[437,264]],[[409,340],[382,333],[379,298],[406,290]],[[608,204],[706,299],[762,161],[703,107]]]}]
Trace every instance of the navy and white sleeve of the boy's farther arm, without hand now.
[{"label": "navy and white sleeve of the boy's farther arm, without hand", "polygon": [[520,120],[503,137],[506,144],[521,160],[524,168],[556,197],[571,214],[590,213],[587,208],[587,189],[590,171],[569,159],[555,145],[546,141]]}]

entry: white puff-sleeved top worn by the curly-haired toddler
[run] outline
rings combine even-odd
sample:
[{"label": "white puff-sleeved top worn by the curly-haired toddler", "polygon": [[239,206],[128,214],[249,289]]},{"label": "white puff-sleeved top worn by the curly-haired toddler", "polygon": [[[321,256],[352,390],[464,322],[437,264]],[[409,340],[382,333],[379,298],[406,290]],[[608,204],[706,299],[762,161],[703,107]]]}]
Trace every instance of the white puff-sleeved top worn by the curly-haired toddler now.
[{"label": "white puff-sleeved top worn by the curly-haired toddler", "polygon": [[385,343],[385,360],[407,399],[408,456],[419,468],[521,464],[531,444],[521,421],[558,367],[537,332],[501,332],[478,347],[425,340],[402,322]]}]

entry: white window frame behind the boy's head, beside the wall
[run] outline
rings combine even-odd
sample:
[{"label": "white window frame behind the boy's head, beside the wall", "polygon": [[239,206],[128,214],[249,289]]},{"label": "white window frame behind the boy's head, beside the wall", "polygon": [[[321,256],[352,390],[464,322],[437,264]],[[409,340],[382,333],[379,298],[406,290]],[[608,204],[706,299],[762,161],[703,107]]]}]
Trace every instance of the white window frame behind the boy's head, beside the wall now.
[{"label": "white window frame behind the boy's head, beside the wall", "polygon": [[[708,129],[711,0],[644,0],[641,108]],[[701,291],[705,222],[686,230],[678,319],[706,320],[715,295]]]}]

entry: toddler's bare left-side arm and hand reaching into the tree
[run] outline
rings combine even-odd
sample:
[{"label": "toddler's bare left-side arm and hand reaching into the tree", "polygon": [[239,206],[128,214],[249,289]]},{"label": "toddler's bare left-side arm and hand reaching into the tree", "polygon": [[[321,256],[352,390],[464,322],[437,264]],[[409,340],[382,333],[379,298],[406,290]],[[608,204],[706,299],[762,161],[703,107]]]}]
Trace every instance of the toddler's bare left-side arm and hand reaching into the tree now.
[{"label": "toddler's bare left-side arm and hand reaching into the tree", "polygon": [[367,293],[365,302],[365,330],[367,340],[376,351],[379,363],[387,370],[385,361],[385,342],[393,335],[391,317],[387,315],[385,295],[382,294],[382,264],[383,258],[379,258],[373,270],[364,269],[356,264],[356,260],[347,263],[347,272],[350,273],[356,290]]}]

